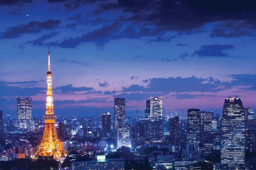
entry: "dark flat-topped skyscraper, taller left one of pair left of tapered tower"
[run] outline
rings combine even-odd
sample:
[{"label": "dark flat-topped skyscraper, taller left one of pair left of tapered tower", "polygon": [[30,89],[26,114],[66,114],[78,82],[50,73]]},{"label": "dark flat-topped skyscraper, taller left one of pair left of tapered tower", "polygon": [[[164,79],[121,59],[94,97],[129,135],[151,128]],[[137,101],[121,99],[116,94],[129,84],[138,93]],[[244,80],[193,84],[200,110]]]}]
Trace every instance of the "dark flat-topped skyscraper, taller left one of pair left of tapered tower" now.
[{"label": "dark flat-topped skyscraper, taller left one of pair left of tapered tower", "polygon": [[188,154],[198,154],[200,140],[200,109],[188,109],[187,122]]}]

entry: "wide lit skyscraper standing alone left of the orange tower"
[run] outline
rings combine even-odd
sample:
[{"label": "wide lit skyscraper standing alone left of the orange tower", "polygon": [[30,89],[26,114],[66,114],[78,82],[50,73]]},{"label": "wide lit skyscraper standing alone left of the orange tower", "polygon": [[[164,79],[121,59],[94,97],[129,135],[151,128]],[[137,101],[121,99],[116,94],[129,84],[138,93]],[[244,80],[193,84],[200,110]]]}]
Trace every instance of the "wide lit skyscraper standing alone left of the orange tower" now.
[{"label": "wide lit skyscraper standing alone left of the orange tower", "polygon": [[17,98],[17,127],[22,129],[32,128],[32,99],[30,97]]}]

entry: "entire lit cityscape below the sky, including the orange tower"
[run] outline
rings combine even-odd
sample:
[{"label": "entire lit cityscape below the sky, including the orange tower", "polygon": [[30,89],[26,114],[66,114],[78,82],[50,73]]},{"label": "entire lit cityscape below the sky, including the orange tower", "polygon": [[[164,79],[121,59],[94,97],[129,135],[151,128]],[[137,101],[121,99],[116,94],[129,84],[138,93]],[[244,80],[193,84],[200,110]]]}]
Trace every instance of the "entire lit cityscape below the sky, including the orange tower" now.
[{"label": "entire lit cityscape below the sky, including the orange tower", "polygon": [[32,158],[72,170],[256,169],[254,109],[244,108],[240,97],[225,98],[222,114],[166,112],[158,96],[145,101],[144,114],[134,108],[127,116],[125,98],[114,98],[112,114],[55,115],[49,54],[45,116],[32,117],[30,97],[17,98],[17,117],[0,111],[0,164]]}]

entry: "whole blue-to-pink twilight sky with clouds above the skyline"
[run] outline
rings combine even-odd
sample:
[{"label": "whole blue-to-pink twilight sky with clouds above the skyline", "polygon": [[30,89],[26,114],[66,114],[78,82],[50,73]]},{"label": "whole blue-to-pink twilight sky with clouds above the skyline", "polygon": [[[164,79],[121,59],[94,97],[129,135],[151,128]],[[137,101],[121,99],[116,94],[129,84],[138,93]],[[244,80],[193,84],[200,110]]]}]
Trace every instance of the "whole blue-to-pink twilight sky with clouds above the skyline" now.
[{"label": "whole blue-to-pink twilight sky with clouds above the skyline", "polygon": [[[45,114],[48,44],[55,115],[255,106],[255,0],[0,0],[0,110],[32,97]],[[28,15],[29,14],[29,15]],[[26,16],[28,15],[28,16]]]}]

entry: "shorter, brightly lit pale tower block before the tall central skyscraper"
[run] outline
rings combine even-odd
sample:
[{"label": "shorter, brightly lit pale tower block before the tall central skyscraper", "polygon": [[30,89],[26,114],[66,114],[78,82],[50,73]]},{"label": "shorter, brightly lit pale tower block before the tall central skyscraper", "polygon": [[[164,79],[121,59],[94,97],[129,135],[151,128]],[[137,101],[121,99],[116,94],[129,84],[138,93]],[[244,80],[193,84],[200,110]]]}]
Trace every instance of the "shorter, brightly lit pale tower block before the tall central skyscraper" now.
[{"label": "shorter, brightly lit pale tower block before the tall central skyscraper", "polygon": [[130,147],[132,144],[131,125],[117,125],[116,128],[116,148],[122,146]]}]

